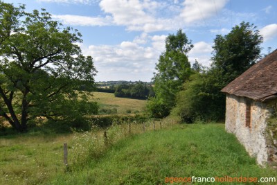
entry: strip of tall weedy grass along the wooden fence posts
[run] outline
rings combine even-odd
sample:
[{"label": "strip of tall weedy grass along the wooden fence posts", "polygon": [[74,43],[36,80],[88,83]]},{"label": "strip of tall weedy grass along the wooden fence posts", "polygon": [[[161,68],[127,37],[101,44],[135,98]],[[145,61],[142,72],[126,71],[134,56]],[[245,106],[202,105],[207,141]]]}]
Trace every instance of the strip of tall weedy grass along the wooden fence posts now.
[{"label": "strip of tall weedy grass along the wooden fence posts", "polygon": [[70,169],[80,170],[85,168],[89,162],[100,159],[107,148],[129,136],[152,130],[161,130],[176,123],[174,119],[170,118],[163,121],[149,120],[144,123],[136,121],[118,123],[115,121],[110,127],[93,126],[90,132],[73,132],[72,144],[69,149],[71,153]]}]

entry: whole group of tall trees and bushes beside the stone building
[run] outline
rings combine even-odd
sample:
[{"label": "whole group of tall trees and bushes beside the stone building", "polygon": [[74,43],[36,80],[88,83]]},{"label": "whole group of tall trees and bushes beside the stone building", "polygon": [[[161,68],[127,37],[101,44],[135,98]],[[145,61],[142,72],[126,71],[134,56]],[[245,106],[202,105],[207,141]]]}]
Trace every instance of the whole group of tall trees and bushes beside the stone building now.
[{"label": "whole group of tall trees and bushes beside the stone building", "polygon": [[262,36],[253,24],[242,22],[227,35],[214,39],[210,68],[188,62],[191,42],[181,30],[168,35],[154,75],[156,96],[148,102],[151,116],[163,118],[170,112],[183,121],[224,118],[225,95],[220,90],[260,58]]}]

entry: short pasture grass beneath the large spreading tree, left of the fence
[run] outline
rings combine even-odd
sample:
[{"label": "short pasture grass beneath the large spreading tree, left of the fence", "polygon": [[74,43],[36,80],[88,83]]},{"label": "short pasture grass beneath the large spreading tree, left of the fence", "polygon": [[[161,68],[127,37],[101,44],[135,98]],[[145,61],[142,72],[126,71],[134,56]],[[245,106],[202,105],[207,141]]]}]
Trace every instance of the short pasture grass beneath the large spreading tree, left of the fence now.
[{"label": "short pasture grass beneath the large spreading tree, left of the fence", "polygon": [[63,173],[63,143],[72,134],[30,132],[1,136],[0,184],[43,184],[57,173]]}]

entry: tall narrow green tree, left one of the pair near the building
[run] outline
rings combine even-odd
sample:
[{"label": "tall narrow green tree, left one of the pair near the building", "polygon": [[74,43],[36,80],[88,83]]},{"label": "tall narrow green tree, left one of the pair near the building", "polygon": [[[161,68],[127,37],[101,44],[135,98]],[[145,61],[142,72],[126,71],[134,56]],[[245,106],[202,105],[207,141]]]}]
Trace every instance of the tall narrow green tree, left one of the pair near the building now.
[{"label": "tall narrow green tree, left one of the pair near the building", "polygon": [[[154,73],[154,92],[156,97],[149,105],[165,107],[168,111],[175,105],[175,96],[181,90],[182,84],[190,76],[190,62],[187,53],[193,48],[193,44],[181,29],[176,35],[166,37],[166,51],[164,51],[156,64],[157,73]],[[152,107],[151,109],[157,109]],[[168,114],[169,112],[166,111]],[[165,110],[163,109],[163,112]],[[166,115],[163,115],[166,116]]]}]

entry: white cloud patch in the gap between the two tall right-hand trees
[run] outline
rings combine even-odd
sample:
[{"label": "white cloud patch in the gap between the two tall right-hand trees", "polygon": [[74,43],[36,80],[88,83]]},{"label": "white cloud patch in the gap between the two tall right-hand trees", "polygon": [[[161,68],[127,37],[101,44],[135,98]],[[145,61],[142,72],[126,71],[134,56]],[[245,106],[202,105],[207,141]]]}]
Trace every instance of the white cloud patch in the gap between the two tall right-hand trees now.
[{"label": "white cloud patch in the gap between the two tall right-hand trees", "polygon": [[211,52],[213,51],[211,44],[206,42],[197,42],[193,45],[193,49],[191,49],[188,53],[188,60],[192,63],[197,60],[199,63],[208,67],[211,64]]}]

